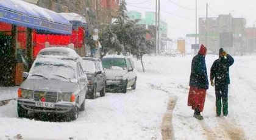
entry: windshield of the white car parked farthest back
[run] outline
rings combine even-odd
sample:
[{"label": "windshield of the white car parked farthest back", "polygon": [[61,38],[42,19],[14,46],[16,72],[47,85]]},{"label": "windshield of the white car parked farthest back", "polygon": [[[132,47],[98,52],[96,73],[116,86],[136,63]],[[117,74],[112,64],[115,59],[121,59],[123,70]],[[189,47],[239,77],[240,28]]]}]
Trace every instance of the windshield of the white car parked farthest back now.
[{"label": "windshield of the white car parked farthest back", "polygon": [[126,69],[126,60],[124,58],[102,58],[104,68],[120,67]]}]

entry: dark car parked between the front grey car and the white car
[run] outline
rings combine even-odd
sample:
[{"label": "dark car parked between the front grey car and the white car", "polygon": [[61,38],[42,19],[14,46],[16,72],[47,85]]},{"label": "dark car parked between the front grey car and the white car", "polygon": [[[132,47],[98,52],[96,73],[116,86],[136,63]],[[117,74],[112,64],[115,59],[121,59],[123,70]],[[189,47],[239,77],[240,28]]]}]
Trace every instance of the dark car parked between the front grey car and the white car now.
[{"label": "dark car parked between the front grey car and the white car", "polygon": [[105,96],[106,74],[101,59],[83,57],[82,68],[88,79],[87,99],[95,99],[98,92]]}]

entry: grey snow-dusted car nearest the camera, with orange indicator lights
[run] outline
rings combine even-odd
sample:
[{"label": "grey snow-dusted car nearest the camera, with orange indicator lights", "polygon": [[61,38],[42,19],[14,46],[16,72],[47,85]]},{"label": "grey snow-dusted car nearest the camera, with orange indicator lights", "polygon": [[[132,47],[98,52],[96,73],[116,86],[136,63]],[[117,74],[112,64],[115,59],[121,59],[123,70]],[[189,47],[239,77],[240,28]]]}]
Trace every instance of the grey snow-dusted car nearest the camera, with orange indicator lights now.
[{"label": "grey snow-dusted car nearest the camera, with orange indicator lights", "polygon": [[[49,51],[49,48],[46,50]],[[40,52],[29,73],[23,72],[26,80],[18,89],[18,116],[29,117],[33,113],[60,114],[67,121],[73,121],[79,111],[85,110],[87,76],[80,58],[70,55],[76,55],[73,49],[50,50],[71,53],[52,55]]]}]

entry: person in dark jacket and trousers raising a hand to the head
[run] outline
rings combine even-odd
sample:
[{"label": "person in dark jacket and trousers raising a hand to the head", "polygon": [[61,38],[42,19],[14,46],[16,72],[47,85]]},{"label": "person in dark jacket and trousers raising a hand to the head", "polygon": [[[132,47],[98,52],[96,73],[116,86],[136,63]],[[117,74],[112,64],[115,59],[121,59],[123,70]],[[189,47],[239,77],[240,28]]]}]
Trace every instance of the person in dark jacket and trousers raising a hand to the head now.
[{"label": "person in dark jacket and trousers raising a hand to the head", "polygon": [[[221,116],[221,109],[224,116],[227,116],[228,111],[228,85],[229,67],[233,65],[234,59],[231,55],[227,54],[224,49],[219,49],[219,58],[213,62],[210,70],[211,85],[215,86],[216,97],[216,116]],[[214,80],[214,81],[213,81]]]}]

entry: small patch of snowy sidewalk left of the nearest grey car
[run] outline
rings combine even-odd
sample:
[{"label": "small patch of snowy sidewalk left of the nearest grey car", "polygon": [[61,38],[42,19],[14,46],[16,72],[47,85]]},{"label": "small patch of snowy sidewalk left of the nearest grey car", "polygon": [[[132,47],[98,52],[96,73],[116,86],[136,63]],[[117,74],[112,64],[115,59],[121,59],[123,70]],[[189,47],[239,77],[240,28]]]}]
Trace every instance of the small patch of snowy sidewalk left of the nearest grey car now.
[{"label": "small patch of snowy sidewalk left of the nearest grey car", "polygon": [[19,86],[0,86],[0,106],[5,105],[11,99],[17,98]]}]

